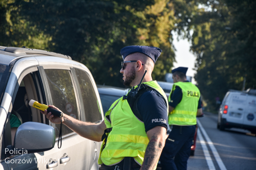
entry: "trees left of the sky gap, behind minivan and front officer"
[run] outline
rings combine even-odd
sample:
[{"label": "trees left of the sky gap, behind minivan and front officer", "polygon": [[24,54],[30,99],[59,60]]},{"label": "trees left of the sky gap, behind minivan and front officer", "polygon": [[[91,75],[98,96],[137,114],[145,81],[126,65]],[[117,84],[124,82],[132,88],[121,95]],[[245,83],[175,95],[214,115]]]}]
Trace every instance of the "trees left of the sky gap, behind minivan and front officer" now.
[{"label": "trees left of the sky gap, behind minivan and front officer", "polygon": [[70,55],[91,70],[96,83],[114,86],[123,84],[121,48],[156,46],[163,53],[152,76],[163,80],[174,60],[171,8],[169,0],[6,0],[1,44]]}]

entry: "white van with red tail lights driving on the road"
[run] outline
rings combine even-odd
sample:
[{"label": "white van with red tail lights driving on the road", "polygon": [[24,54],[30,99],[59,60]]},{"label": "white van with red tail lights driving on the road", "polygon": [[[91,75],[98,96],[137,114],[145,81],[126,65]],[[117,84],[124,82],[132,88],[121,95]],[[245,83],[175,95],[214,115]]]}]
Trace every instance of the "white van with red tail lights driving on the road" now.
[{"label": "white van with red tail lights driving on the road", "polygon": [[217,128],[241,128],[256,133],[256,90],[229,90],[220,105]]}]

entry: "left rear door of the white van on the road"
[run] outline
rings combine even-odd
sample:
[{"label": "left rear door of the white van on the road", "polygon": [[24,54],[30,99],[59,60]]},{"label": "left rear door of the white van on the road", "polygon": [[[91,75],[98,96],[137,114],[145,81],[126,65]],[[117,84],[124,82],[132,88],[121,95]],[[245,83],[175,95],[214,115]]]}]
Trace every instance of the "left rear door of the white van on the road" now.
[{"label": "left rear door of the white van on the road", "polygon": [[247,95],[244,93],[233,93],[228,102],[227,121],[243,124],[246,109]]}]

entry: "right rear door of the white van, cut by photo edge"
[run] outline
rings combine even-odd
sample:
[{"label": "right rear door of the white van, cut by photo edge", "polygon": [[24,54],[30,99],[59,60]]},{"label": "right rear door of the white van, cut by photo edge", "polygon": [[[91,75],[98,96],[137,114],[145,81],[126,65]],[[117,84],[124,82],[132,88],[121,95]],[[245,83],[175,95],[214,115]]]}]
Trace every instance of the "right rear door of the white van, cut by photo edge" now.
[{"label": "right rear door of the white van, cut by photo edge", "polygon": [[247,96],[243,124],[249,126],[256,126],[256,96]]}]

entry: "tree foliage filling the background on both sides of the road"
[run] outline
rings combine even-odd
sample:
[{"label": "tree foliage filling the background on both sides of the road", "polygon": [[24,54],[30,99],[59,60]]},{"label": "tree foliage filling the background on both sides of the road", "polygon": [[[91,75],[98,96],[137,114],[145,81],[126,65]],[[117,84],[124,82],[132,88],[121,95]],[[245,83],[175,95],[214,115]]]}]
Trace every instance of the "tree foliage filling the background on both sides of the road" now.
[{"label": "tree foliage filling the background on both sides of the road", "polygon": [[253,0],[2,0],[0,45],[70,55],[96,83],[123,86],[120,49],[161,48],[152,77],[164,80],[175,30],[192,41],[195,78],[213,104],[228,89],[241,90],[244,78],[246,88],[256,84],[255,9]]}]

